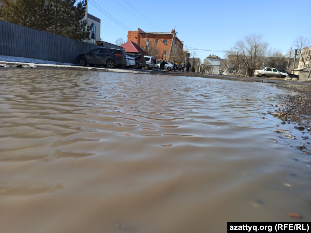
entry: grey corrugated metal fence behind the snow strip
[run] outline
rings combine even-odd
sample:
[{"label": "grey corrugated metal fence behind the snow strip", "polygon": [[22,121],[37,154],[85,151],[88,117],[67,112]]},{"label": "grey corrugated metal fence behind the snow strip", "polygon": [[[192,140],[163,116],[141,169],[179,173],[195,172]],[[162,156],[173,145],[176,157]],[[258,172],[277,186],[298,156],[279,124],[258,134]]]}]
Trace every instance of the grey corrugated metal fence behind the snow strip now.
[{"label": "grey corrugated metal fence behind the snow strip", "polygon": [[99,47],[0,20],[0,55],[76,63],[77,55]]}]

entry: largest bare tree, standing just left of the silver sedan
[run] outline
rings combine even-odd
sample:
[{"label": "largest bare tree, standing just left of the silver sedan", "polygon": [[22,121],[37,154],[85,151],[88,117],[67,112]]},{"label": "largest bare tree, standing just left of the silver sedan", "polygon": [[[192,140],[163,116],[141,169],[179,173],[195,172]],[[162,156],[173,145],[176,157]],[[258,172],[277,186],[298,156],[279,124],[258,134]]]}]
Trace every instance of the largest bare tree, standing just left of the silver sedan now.
[{"label": "largest bare tree, standing just left of the silver sedan", "polygon": [[256,68],[261,67],[262,58],[266,55],[267,42],[262,41],[262,35],[250,34],[244,40],[239,40],[228,52],[228,55],[236,56],[239,52],[239,66],[246,67],[247,75],[251,77]]}]

